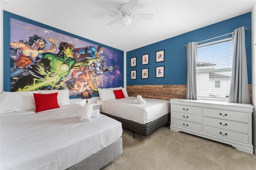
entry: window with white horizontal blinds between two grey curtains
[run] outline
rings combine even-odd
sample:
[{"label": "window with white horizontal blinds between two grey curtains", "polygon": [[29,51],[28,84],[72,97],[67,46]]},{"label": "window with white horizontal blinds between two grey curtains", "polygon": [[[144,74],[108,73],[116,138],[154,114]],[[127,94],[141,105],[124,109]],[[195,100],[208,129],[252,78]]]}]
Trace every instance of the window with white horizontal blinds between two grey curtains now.
[{"label": "window with white horizontal blinds between two grey curtains", "polygon": [[196,63],[198,99],[228,100],[232,39],[198,45]]}]

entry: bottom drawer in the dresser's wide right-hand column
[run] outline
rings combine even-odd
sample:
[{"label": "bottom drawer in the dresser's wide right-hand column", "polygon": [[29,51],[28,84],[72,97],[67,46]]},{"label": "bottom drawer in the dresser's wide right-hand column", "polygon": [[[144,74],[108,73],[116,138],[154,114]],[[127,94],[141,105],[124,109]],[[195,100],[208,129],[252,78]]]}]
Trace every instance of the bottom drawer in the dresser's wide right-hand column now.
[{"label": "bottom drawer in the dresser's wide right-hand column", "polygon": [[204,125],[204,133],[248,144],[248,134]]}]

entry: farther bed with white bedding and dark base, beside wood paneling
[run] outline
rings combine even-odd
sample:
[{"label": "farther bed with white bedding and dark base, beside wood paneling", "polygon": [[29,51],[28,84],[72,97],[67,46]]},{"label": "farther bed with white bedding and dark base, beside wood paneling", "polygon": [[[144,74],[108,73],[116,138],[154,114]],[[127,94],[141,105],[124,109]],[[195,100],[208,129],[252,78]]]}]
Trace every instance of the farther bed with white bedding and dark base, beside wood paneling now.
[{"label": "farther bed with white bedding and dark base, beside wood paneling", "polygon": [[133,134],[148,136],[170,122],[170,101],[144,98],[146,103],[134,103],[125,88],[99,89],[101,113],[122,123]]}]

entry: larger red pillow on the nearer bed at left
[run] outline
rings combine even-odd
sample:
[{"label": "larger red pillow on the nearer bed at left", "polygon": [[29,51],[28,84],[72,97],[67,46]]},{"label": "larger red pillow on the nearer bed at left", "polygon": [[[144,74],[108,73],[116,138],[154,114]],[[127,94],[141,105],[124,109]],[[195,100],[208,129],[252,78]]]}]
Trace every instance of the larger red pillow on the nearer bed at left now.
[{"label": "larger red pillow on the nearer bed at left", "polygon": [[50,93],[50,94],[39,94],[33,93],[34,99],[36,103],[36,113],[41,111],[46,111],[49,109],[60,108],[58,105],[57,95],[58,93]]}]

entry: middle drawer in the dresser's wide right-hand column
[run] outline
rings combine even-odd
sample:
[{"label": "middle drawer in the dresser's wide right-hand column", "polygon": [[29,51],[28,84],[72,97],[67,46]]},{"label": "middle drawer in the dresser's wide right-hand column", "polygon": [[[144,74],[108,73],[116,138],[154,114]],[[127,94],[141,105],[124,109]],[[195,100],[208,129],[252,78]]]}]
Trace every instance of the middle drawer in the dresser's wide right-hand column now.
[{"label": "middle drawer in the dresser's wide right-hand column", "polygon": [[204,125],[224,128],[224,129],[233,130],[233,131],[242,132],[242,133],[248,133],[247,123],[204,117]]}]

